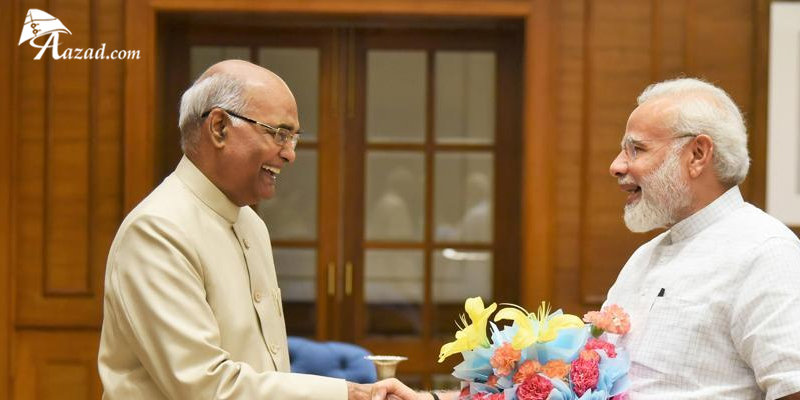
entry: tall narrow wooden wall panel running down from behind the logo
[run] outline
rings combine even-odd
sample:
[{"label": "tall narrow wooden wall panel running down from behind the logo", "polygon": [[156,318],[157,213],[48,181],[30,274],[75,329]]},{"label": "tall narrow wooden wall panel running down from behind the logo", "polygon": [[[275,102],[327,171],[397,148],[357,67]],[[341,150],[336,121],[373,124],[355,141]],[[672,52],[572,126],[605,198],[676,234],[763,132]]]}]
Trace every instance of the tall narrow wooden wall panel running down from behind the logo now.
[{"label": "tall narrow wooden wall panel running down from behind the logo", "polygon": [[[60,0],[48,6],[65,26],[72,27],[72,35],[63,39],[64,44],[89,48],[88,0]],[[86,60],[53,60],[46,71],[49,87],[45,94],[42,144],[44,260],[41,268],[41,285],[46,296],[89,294],[90,68],[91,63]]]}]

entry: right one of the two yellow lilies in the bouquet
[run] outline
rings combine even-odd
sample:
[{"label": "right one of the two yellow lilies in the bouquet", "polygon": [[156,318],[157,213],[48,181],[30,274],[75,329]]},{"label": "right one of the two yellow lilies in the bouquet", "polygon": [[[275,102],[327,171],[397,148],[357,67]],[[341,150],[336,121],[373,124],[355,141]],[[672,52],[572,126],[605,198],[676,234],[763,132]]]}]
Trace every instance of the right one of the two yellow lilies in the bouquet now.
[{"label": "right one of the two yellow lilies in the bouquet", "polygon": [[516,350],[522,350],[537,342],[554,340],[558,336],[558,331],[562,329],[584,326],[583,321],[575,315],[550,315],[550,306],[545,302],[539,306],[537,315],[528,313],[520,306],[504,308],[494,317],[495,321],[502,319],[513,320],[519,327],[517,334],[511,339],[511,345]]}]

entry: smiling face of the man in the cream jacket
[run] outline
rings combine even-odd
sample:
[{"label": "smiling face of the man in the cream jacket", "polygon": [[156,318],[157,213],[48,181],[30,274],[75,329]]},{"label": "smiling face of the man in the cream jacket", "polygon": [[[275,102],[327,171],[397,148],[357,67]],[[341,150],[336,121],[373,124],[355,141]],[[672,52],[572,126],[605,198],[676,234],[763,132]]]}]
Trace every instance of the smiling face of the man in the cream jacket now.
[{"label": "smiling face of the man in the cream jacket", "polygon": [[[249,102],[243,116],[293,132],[299,129],[294,96],[280,79],[251,84],[246,95]],[[278,174],[295,160],[294,149],[289,143],[278,145],[264,127],[242,120],[234,126],[236,117],[225,115],[227,133],[220,149],[218,186],[239,206],[273,197]]]}]

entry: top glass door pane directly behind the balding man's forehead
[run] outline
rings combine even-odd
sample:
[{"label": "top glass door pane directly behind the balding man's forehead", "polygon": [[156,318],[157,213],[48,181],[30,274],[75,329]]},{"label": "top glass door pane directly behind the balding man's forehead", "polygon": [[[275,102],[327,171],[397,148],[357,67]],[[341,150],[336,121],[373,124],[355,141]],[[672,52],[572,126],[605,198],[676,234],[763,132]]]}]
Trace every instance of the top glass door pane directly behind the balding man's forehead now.
[{"label": "top glass door pane directly behind the balding man's forehead", "polygon": [[315,142],[319,131],[319,50],[262,47],[258,50],[258,63],[289,85],[304,131],[300,140]]}]

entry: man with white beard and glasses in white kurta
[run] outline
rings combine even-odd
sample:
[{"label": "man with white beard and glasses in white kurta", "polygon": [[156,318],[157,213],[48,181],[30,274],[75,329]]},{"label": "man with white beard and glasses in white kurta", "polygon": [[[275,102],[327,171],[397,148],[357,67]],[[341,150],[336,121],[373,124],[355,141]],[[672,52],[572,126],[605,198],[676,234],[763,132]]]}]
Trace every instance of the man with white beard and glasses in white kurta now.
[{"label": "man with white beard and glasses in white kurta", "polygon": [[684,78],[639,96],[610,173],[630,193],[628,229],[668,230],[606,300],[631,314],[617,344],[632,400],[800,399],[800,241],[742,199],[749,164],[722,89]]}]

